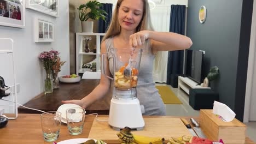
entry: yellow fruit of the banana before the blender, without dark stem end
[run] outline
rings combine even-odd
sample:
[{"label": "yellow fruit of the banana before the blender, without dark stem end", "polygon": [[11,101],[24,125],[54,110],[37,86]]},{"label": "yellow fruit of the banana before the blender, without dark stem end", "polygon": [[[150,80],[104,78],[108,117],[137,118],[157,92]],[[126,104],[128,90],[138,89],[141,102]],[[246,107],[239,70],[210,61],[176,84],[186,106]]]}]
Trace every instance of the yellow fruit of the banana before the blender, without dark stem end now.
[{"label": "yellow fruit of the banana before the blender, without dark stem end", "polygon": [[141,136],[133,134],[134,142],[137,144],[162,144],[164,143],[165,139],[161,137],[148,137],[148,136]]}]

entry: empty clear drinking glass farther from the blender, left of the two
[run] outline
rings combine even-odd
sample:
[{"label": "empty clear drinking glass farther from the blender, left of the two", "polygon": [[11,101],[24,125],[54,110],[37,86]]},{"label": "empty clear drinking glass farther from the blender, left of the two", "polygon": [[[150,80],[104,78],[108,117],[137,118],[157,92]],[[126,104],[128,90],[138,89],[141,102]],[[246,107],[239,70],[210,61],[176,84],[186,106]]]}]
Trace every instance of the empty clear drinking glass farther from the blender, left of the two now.
[{"label": "empty clear drinking glass farther from the blender, left of the two", "polygon": [[60,134],[61,112],[44,112],[40,117],[44,140],[48,142],[57,140]]}]

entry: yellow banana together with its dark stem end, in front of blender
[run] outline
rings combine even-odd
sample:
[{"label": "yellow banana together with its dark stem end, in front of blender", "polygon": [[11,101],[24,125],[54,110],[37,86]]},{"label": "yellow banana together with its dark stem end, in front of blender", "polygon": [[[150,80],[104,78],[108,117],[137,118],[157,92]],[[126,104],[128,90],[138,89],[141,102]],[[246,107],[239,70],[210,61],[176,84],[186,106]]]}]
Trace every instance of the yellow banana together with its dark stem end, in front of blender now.
[{"label": "yellow banana together with its dark stem end, in front of blender", "polygon": [[137,143],[137,144],[162,144],[164,143],[165,139],[161,137],[148,137],[148,136],[141,136],[135,135],[131,133],[131,128],[125,127],[119,133],[117,133],[119,140],[122,143]]}]

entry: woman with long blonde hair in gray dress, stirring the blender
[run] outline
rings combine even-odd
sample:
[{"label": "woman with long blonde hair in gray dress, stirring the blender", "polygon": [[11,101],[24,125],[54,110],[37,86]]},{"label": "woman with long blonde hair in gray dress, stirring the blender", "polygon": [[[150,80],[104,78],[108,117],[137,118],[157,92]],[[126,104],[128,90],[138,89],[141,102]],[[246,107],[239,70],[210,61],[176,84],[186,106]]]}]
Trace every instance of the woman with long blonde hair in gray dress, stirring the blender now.
[{"label": "woman with long blonde hair in gray dress, stirring the blender", "polygon": [[[153,82],[153,61],[158,51],[188,49],[190,38],[170,32],[153,31],[148,0],[118,0],[112,21],[101,43],[101,53],[110,48],[125,49],[127,46],[145,49],[139,67],[137,97],[144,106],[143,115],[166,115],[165,106]],[[108,55],[107,75],[113,75],[113,59]],[[100,84],[81,100],[67,100],[62,103],[78,104],[84,108],[104,97],[113,82],[101,75]]]}]

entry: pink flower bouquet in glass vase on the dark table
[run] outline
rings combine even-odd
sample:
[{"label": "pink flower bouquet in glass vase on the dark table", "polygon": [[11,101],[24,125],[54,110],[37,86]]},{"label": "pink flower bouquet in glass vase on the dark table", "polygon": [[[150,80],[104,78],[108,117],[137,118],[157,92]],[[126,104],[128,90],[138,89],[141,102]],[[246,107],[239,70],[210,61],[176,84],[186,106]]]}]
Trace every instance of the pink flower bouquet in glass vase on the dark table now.
[{"label": "pink flower bouquet in glass vase on the dark table", "polygon": [[[59,73],[61,66],[65,63],[60,61],[59,54],[60,53],[58,51],[51,50],[49,52],[41,52],[39,55],[39,59],[43,63],[44,69],[46,71],[46,79],[44,81],[45,93],[53,92],[53,88],[56,84],[56,76]],[[57,87],[59,87],[59,80],[57,85]]]}]

